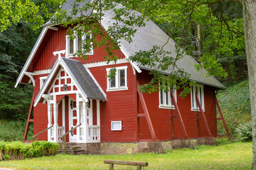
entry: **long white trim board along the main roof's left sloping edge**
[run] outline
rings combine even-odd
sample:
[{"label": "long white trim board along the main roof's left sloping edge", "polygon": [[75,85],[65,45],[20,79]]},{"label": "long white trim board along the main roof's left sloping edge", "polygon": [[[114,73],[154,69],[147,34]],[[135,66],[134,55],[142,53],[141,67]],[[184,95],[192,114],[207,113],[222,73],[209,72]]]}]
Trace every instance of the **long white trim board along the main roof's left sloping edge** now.
[{"label": "long white trim board along the main roof's left sloping edge", "polygon": [[25,65],[23,66],[21,73],[18,75],[18,79],[16,80],[15,88],[18,86],[18,84],[21,82],[21,79],[23,78],[26,70],[28,69],[29,64],[31,64],[31,61],[33,60],[34,55],[36,54],[36,51],[38,50],[39,45],[41,45],[41,42],[46,35],[46,32],[48,30],[48,27],[44,27],[41,34],[39,35],[38,40],[36,41],[36,44],[33,47],[33,50],[31,51],[30,55],[28,56],[28,59],[26,60]]}]

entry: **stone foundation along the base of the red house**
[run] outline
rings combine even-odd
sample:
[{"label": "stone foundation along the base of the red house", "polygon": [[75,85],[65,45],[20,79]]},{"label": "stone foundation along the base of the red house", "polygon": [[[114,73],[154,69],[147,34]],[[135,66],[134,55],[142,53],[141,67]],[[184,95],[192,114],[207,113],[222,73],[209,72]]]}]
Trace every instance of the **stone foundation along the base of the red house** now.
[{"label": "stone foundation along the base of the red house", "polygon": [[169,140],[156,142],[102,142],[79,143],[87,154],[137,154],[143,152],[164,153],[164,149],[191,148],[196,145],[216,145],[215,137],[189,140]]}]

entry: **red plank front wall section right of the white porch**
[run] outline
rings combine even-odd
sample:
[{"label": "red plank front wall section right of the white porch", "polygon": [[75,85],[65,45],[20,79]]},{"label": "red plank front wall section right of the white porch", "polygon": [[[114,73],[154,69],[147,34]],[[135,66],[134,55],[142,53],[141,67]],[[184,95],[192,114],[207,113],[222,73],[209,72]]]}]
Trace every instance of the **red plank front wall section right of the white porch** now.
[{"label": "red plank front wall section right of the white porch", "polygon": [[[107,91],[107,68],[127,66],[128,90]],[[135,75],[129,63],[90,68],[93,76],[107,95],[107,101],[100,101],[101,142],[137,141],[137,114],[135,114]],[[122,121],[122,130],[112,131],[111,121]]]}]

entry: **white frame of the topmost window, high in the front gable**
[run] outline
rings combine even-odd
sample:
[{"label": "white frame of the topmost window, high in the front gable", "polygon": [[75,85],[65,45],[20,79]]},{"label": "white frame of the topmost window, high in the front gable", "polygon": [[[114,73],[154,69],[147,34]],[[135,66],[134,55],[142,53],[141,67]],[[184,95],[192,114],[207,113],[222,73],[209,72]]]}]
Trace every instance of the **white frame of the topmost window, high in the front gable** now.
[{"label": "white frame of the topmost window, high in the front gable", "polygon": [[[90,38],[92,38],[92,33],[88,32],[90,34]],[[85,40],[87,34],[82,35],[82,40]],[[78,51],[78,35],[75,35],[75,38],[73,40],[73,54],[70,54],[70,35],[66,35],[65,36],[65,40],[66,40],[66,52],[65,52],[65,57],[70,58],[70,57],[77,57],[74,56],[75,52]],[[91,49],[90,52],[86,53],[85,55],[93,55],[93,47],[92,47],[92,42],[91,42]]]}]

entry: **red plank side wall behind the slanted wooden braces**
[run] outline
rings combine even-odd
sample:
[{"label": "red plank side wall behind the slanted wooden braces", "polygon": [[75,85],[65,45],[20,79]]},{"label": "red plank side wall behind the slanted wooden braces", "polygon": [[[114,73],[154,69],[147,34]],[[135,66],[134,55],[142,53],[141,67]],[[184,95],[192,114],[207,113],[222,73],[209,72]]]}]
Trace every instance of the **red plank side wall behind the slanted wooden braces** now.
[{"label": "red plank side wall behind the slanted wooden braces", "polygon": [[[151,79],[146,70],[137,74],[139,84],[145,84]],[[205,98],[205,114],[208,120],[210,132],[213,136],[217,135],[216,124],[216,108],[214,103],[215,91],[213,87],[204,85],[204,98]],[[188,94],[185,98],[180,98],[181,89],[177,91],[177,103],[178,108],[183,118],[188,137],[207,137],[208,132],[206,126],[201,118],[201,113],[197,111],[191,111],[191,95]],[[175,110],[159,108],[159,92],[144,94],[146,106],[149,110],[149,115],[153,123],[154,130],[156,132],[156,138],[158,140],[171,140],[171,139],[183,139],[184,134],[181,129],[181,123],[178,120]],[[139,99],[138,99],[139,100]],[[143,113],[142,105],[139,101],[139,113]],[[198,116],[197,116],[198,114]],[[198,120],[196,120],[198,118]],[[198,122],[198,123],[197,123]],[[171,124],[172,123],[172,124]],[[139,118],[139,139],[150,139],[148,125],[145,118]]]}]

